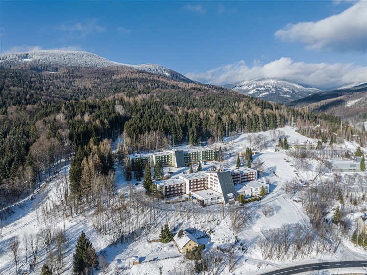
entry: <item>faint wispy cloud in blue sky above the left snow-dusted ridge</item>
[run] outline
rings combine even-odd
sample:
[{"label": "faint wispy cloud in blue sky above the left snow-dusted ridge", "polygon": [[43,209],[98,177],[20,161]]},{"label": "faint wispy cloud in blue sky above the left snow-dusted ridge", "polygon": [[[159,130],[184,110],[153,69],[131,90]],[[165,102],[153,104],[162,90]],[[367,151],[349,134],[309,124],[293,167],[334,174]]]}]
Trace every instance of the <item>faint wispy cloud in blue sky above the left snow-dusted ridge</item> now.
[{"label": "faint wispy cloud in blue sky above the left snow-dusted ridge", "polygon": [[94,33],[101,33],[106,31],[106,28],[99,25],[95,18],[83,20],[81,22],[69,22],[67,24],[60,24],[53,29],[66,33],[69,38],[85,38]]}]

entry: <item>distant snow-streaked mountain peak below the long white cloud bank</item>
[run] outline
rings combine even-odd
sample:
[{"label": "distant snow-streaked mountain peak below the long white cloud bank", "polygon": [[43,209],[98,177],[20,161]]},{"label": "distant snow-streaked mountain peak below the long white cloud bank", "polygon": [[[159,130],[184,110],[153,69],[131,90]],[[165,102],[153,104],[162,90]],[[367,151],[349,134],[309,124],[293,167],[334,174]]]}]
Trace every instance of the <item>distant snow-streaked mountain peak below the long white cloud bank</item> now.
[{"label": "distant snow-streaked mountain peak below the long white cloud bank", "polygon": [[253,79],[224,86],[253,97],[283,103],[320,92],[317,88],[304,87],[297,83],[277,79]]}]

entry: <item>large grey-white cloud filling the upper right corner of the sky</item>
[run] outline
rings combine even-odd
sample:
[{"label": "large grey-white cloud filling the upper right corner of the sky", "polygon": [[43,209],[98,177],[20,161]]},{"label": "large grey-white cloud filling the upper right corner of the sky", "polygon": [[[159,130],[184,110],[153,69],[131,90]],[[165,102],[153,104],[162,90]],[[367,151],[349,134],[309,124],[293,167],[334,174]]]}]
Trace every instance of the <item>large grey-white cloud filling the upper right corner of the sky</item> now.
[{"label": "large grey-white cloud filling the upper right corner of the sky", "polygon": [[367,2],[362,0],[343,12],[313,22],[288,24],[275,32],[286,42],[300,42],[308,49],[366,52]]}]

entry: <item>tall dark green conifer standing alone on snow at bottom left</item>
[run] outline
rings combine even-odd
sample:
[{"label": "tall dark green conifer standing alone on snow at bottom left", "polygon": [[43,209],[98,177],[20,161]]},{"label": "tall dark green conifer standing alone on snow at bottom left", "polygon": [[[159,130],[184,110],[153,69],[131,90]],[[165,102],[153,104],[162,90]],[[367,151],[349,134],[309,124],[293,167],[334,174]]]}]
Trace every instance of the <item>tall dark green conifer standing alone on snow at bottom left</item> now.
[{"label": "tall dark green conifer standing alone on snow at bottom left", "polygon": [[97,255],[90,240],[84,232],[80,234],[76,243],[75,253],[73,255],[73,271],[76,273],[84,272],[86,268],[98,266]]}]

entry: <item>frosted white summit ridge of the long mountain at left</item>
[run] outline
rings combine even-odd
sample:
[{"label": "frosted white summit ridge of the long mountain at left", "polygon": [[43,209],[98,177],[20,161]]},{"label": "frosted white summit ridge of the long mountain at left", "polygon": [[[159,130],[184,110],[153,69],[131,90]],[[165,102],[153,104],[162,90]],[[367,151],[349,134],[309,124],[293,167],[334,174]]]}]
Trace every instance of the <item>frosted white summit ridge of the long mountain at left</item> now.
[{"label": "frosted white summit ridge of the long mountain at left", "polygon": [[0,67],[10,68],[22,64],[89,68],[128,66],[153,74],[163,75],[178,81],[193,82],[184,75],[161,65],[153,63],[141,65],[124,64],[84,51],[39,50],[0,55]]}]

